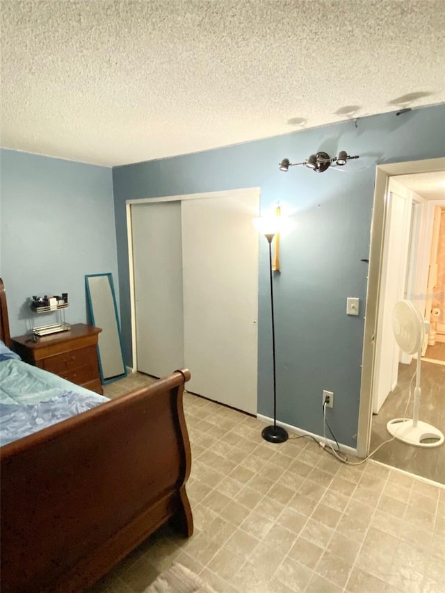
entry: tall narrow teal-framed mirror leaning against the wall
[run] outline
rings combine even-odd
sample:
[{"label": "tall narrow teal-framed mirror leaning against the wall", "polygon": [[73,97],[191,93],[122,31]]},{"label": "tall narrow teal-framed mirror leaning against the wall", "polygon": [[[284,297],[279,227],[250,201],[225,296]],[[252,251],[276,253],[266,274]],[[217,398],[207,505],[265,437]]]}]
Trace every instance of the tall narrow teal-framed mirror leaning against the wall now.
[{"label": "tall narrow teal-framed mirror leaning against the wall", "polygon": [[127,376],[113,276],[88,274],[85,286],[91,323],[102,328],[97,355],[102,384],[107,384]]}]

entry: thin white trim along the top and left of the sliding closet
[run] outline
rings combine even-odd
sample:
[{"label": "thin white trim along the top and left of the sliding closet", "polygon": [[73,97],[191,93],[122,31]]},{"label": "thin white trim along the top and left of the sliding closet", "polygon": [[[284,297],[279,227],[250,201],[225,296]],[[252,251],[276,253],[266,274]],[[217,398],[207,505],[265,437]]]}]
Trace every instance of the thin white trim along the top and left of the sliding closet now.
[{"label": "thin white trim along the top and left of the sliding closet", "polygon": [[[126,200],[125,208],[127,212],[127,243],[128,243],[128,263],[129,263],[129,286],[130,286],[130,315],[131,315],[131,355],[133,359],[133,371],[138,368],[138,352],[136,347],[136,295],[134,290],[134,268],[133,268],[133,231],[131,225],[131,206],[138,204],[154,204],[155,202],[182,202],[184,200],[205,200],[211,197],[238,197],[239,199],[246,195],[255,195],[258,197],[261,208],[261,188],[237,188],[233,190],[209,191],[202,193],[189,193],[180,195],[165,195],[159,197],[143,197],[140,199]],[[254,216],[252,216],[252,219]],[[258,289],[257,289],[258,290]],[[257,359],[258,373],[258,359]]]}]

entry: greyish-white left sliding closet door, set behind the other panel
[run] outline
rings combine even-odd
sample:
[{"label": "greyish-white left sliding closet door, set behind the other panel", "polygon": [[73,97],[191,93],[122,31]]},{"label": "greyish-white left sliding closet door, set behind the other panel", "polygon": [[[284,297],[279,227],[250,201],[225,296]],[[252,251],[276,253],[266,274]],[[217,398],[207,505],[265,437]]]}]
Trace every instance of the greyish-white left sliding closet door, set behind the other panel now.
[{"label": "greyish-white left sliding closet door, set behind the other panel", "polygon": [[138,371],[164,377],[184,366],[181,203],[132,204]]}]

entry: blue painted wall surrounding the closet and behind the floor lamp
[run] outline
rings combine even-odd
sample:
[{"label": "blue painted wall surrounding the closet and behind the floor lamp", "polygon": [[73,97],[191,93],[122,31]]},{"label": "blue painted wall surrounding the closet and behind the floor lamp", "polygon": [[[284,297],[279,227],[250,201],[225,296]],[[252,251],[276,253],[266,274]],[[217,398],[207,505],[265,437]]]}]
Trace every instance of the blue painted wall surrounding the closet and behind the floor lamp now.
[{"label": "blue painted wall surrounding the closet and behind the floor lamp", "polygon": [[[324,150],[360,159],[317,174],[299,167]],[[277,417],[321,434],[321,393],[334,391],[331,425],[339,441],[356,445],[369,236],[375,165],[445,155],[445,108],[365,117],[207,152],[113,168],[122,328],[131,352],[125,201],[259,186],[261,207],[280,200],[294,229],[282,239],[282,273],[275,277]],[[266,241],[259,277],[259,405],[273,415]],[[224,246],[222,245],[223,249]],[[360,298],[359,317],[346,298]],[[131,364],[131,360],[128,360]],[[193,371],[193,369],[192,369]]]}]

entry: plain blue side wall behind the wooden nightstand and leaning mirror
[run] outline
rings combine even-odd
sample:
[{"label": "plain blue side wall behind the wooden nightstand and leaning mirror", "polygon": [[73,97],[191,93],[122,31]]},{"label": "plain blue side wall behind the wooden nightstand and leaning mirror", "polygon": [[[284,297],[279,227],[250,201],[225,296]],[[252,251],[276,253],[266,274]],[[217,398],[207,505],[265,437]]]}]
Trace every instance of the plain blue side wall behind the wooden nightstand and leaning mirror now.
[{"label": "plain blue side wall behind the wooden nightstand and leaning mirror", "polygon": [[[31,325],[27,299],[68,293],[69,323],[87,320],[86,274],[118,277],[111,168],[2,149],[1,277],[10,330]],[[35,325],[52,323],[42,314]]]}]

